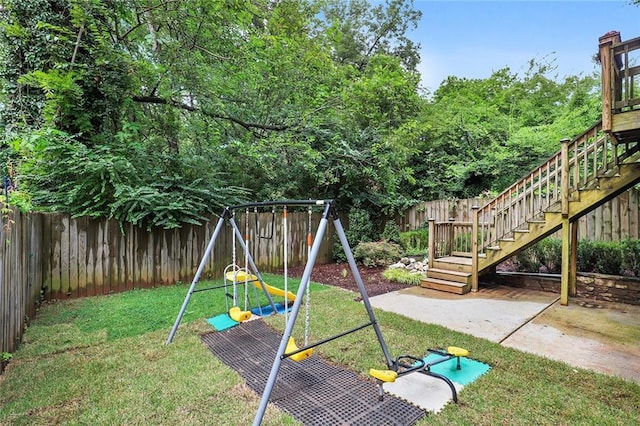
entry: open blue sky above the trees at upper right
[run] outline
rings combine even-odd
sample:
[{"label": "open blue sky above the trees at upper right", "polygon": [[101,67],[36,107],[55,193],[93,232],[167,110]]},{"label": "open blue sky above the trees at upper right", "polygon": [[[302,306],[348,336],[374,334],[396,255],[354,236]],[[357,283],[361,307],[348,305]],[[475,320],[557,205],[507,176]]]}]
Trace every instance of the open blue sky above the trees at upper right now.
[{"label": "open blue sky above the trees at upper right", "polygon": [[640,6],[609,1],[414,0],[422,20],[409,37],[421,44],[422,84],[434,91],[449,75],[488,78],[531,59],[552,62],[559,78],[591,74],[598,38],[616,30],[640,37]]}]

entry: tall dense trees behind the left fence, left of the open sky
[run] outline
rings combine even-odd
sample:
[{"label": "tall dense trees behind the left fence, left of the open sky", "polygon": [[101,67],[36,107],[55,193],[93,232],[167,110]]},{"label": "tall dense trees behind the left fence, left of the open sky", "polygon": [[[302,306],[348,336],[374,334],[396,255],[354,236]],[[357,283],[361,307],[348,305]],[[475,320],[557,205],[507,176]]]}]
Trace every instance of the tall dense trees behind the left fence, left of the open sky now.
[{"label": "tall dense trees behind the left fence, left of the open sky", "polygon": [[397,204],[411,2],[5,5],[4,152],[35,208],[172,227],[249,197]]}]

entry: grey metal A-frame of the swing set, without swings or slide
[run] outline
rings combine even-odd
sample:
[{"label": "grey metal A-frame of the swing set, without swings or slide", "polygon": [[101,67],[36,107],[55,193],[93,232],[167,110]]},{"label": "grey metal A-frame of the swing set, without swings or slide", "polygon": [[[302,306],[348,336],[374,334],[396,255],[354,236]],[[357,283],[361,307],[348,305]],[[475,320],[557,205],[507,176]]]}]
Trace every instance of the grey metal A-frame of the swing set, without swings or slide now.
[{"label": "grey metal A-frame of the swing set, without swings or slide", "polygon": [[[275,386],[277,377],[278,377],[278,372],[280,370],[280,366],[282,365],[282,361],[285,358],[291,357],[299,352],[303,352],[306,351],[308,349],[314,348],[316,346],[320,346],[324,343],[330,342],[332,340],[341,338],[343,336],[346,336],[348,334],[354,333],[356,331],[362,330],[364,328],[367,327],[373,327],[375,334],[376,334],[376,338],[378,339],[378,343],[380,344],[380,348],[382,349],[382,353],[384,354],[384,358],[385,358],[385,362],[387,364],[388,367],[391,367],[394,365],[395,360],[391,357],[391,354],[389,353],[389,349],[387,347],[387,344],[385,343],[384,337],[382,335],[382,331],[380,330],[380,326],[378,325],[378,321],[375,317],[375,314],[373,312],[373,308],[371,306],[371,303],[369,301],[369,296],[367,294],[367,290],[364,286],[364,282],[362,281],[362,277],[360,276],[360,272],[358,270],[358,267],[356,265],[356,261],[353,257],[353,253],[351,251],[351,248],[349,246],[349,242],[347,241],[347,237],[344,233],[344,228],[342,227],[342,223],[340,221],[340,218],[338,217],[338,214],[336,212],[335,209],[335,202],[333,200],[283,200],[283,201],[265,201],[265,202],[260,202],[260,203],[249,203],[249,204],[240,204],[240,205],[235,205],[235,206],[229,206],[226,207],[222,214],[220,215],[220,219],[218,221],[218,224],[213,232],[213,235],[211,237],[211,240],[209,241],[209,244],[207,246],[207,249],[205,250],[205,253],[202,257],[202,261],[200,262],[200,266],[198,267],[198,270],[196,271],[196,274],[194,276],[193,282],[191,283],[191,287],[189,288],[189,291],[187,292],[187,295],[185,297],[185,300],[182,304],[182,307],[180,308],[180,312],[178,313],[178,316],[176,318],[176,321],[173,325],[173,328],[171,329],[171,332],[169,334],[169,337],[167,338],[167,344],[171,343],[171,341],[173,340],[175,333],[178,329],[178,326],[180,325],[180,321],[182,320],[182,317],[184,315],[184,312],[186,311],[187,305],[189,304],[189,299],[191,298],[191,295],[196,291],[195,290],[195,286],[197,284],[197,282],[200,279],[200,275],[202,274],[202,271],[205,268],[205,265],[207,263],[207,260],[209,259],[209,256],[211,255],[211,252],[213,251],[213,247],[215,245],[216,239],[220,233],[220,230],[222,228],[222,225],[225,222],[229,222],[231,224],[231,226],[233,227],[234,230],[234,234],[236,236],[236,238],[238,239],[238,241],[240,242],[241,247],[243,248],[243,250],[245,250],[245,253],[247,253],[247,258],[248,258],[248,262],[250,267],[253,269],[253,271],[255,272],[255,275],[258,277],[261,287],[265,293],[265,295],[267,296],[269,303],[272,305],[273,307],[273,312],[277,312],[275,309],[275,304],[273,303],[273,299],[271,298],[270,294],[267,291],[267,288],[265,287],[264,281],[262,279],[262,277],[260,276],[260,273],[258,272],[258,268],[256,267],[256,264],[253,260],[253,258],[251,257],[251,254],[249,253],[249,251],[246,249],[246,245],[245,242],[242,238],[242,235],[238,229],[237,224],[235,223],[235,220],[233,218],[233,211],[235,211],[236,209],[246,209],[246,208],[260,208],[260,207],[278,207],[278,206],[282,206],[282,207],[323,207],[324,211],[322,214],[322,218],[320,219],[320,223],[318,225],[318,228],[316,230],[315,233],[315,237],[313,238],[313,244],[311,246],[311,249],[309,250],[309,254],[307,257],[307,263],[305,265],[304,268],[304,272],[302,274],[302,278],[300,279],[300,285],[298,287],[298,293],[296,294],[296,299],[293,303],[293,306],[291,308],[291,312],[289,313],[287,322],[286,322],[286,326],[285,326],[285,330],[282,334],[282,340],[280,341],[280,345],[278,346],[278,350],[276,352],[273,364],[271,366],[271,371],[269,373],[269,378],[267,379],[267,383],[265,385],[264,388],[264,392],[262,393],[262,399],[260,400],[260,405],[258,407],[258,411],[256,413],[256,416],[254,418],[253,421],[253,425],[254,426],[258,426],[262,423],[262,418],[264,417],[264,413],[267,409],[267,405],[269,403],[269,398],[271,396],[271,392]],[[312,343],[312,344],[308,344],[302,348],[299,348],[296,351],[292,351],[292,352],[288,352],[285,353],[286,348],[287,348],[287,343],[289,341],[289,338],[291,337],[292,333],[293,333],[293,328],[295,326],[295,322],[296,322],[296,318],[298,317],[298,313],[300,312],[300,306],[302,305],[302,300],[304,298],[304,293],[307,290],[308,286],[309,286],[309,282],[311,279],[311,272],[313,270],[313,267],[315,265],[315,261],[316,258],[318,257],[318,253],[320,251],[320,246],[322,244],[322,239],[324,238],[325,232],[327,231],[327,227],[329,224],[329,221],[333,222],[333,226],[335,228],[336,231],[336,235],[338,235],[338,238],[340,240],[340,243],[342,245],[342,248],[344,250],[344,254],[347,258],[347,262],[349,263],[349,268],[351,269],[351,273],[352,276],[354,277],[354,280],[358,286],[358,290],[360,292],[360,296],[362,299],[362,303],[364,305],[364,308],[367,312],[368,318],[369,318],[369,322],[360,325],[358,327],[352,328],[350,330],[347,330],[345,332],[339,333],[335,336],[332,337],[328,337],[325,339],[322,339],[318,342]]]}]

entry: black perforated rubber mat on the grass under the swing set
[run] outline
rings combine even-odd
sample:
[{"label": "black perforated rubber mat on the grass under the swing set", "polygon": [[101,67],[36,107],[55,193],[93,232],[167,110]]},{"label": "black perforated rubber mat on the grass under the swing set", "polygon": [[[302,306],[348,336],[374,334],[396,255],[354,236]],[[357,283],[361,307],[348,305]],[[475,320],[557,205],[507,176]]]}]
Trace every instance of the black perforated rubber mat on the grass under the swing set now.
[{"label": "black perforated rubber mat on the grass under the swing set", "polygon": [[[202,336],[211,352],[262,395],[281,335],[262,320]],[[378,388],[352,371],[313,355],[283,360],[269,402],[305,425],[412,425],[426,413],[393,395],[378,401]]]}]

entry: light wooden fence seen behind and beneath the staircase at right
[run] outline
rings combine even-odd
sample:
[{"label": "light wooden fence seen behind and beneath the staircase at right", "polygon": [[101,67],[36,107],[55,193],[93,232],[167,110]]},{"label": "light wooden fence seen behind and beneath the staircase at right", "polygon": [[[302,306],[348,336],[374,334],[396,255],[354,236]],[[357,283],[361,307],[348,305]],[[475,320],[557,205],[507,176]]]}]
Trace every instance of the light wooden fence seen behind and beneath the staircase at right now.
[{"label": "light wooden fence seen behind and beneath the staircase at right", "polygon": [[[427,201],[404,212],[397,222],[403,231],[426,226],[430,218],[436,222],[470,222],[471,207],[482,207],[489,201],[490,198]],[[632,188],[578,219],[578,237],[591,241],[640,239],[639,223],[640,191]],[[560,238],[560,233],[554,236]]]}]

